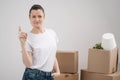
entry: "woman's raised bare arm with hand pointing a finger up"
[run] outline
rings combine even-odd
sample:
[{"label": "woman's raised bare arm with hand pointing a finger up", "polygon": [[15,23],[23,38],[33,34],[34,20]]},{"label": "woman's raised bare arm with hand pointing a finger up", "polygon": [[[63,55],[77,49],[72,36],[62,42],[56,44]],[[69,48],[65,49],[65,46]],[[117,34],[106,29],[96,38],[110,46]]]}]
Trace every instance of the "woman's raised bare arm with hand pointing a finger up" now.
[{"label": "woman's raised bare arm with hand pointing a finger up", "polygon": [[21,28],[19,27],[19,40],[22,48],[22,60],[24,65],[29,68],[32,65],[32,53],[26,50],[26,39],[27,33],[22,32]]}]

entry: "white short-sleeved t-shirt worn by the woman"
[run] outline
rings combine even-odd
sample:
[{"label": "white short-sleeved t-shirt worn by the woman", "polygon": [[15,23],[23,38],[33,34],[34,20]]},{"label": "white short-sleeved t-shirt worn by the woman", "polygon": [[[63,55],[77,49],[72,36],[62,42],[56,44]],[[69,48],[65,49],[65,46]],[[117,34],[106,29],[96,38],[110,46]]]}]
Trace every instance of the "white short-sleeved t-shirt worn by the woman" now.
[{"label": "white short-sleeved t-shirt worn by the woman", "polygon": [[26,49],[33,53],[30,68],[52,71],[56,58],[58,37],[52,29],[45,28],[42,34],[28,33]]}]

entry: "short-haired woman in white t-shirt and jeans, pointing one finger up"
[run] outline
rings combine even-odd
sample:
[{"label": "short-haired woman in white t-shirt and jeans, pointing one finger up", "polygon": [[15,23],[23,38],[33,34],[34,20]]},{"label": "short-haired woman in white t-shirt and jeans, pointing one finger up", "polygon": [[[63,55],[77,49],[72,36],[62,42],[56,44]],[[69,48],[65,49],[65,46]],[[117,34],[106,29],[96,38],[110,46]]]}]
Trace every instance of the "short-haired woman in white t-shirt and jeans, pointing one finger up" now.
[{"label": "short-haired woman in white t-shirt and jeans, pointing one finger up", "polygon": [[22,59],[26,67],[22,80],[53,80],[60,75],[56,59],[57,35],[52,29],[42,26],[45,19],[42,6],[33,5],[29,19],[33,28],[28,34],[19,28]]}]

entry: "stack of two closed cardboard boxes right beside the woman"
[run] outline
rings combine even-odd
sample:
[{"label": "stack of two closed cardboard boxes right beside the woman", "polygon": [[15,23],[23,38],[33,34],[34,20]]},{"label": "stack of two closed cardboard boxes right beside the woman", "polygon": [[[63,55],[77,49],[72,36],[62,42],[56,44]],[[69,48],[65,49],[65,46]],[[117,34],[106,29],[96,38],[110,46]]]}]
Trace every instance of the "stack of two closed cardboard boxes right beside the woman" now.
[{"label": "stack of two closed cardboard boxes right beside the woman", "polygon": [[60,76],[54,80],[78,80],[78,51],[57,51]]}]

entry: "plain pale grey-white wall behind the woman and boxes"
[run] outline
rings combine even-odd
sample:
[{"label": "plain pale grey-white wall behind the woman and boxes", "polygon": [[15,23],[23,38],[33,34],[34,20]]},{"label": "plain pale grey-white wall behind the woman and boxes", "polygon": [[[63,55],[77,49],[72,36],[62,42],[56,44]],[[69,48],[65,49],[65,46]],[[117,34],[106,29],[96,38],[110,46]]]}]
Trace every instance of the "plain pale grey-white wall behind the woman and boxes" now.
[{"label": "plain pale grey-white wall behind the woman and boxes", "polygon": [[102,34],[114,33],[120,47],[120,0],[1,0],[0,80],[21,80],[18,26],[26,32],[31,29],[28,12],[34,3],[45,8],[44,26],[57,32],[58,49],[79,51],[79,69],[87,68],[88,48]]}]

